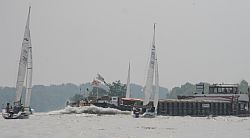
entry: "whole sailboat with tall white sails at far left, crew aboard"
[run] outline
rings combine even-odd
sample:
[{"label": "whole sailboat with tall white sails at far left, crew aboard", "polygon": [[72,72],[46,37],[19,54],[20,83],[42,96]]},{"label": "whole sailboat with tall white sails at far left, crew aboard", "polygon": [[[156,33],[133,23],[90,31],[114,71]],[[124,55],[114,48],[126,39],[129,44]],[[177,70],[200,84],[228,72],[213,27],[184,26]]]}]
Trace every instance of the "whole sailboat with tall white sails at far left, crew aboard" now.
[{"label": "whole sailboat with tall white sails at far left, crew aboard", "polygon": [[[32,45],[30,38],[30,10],[29,7],[28,18],[25,26],[24,38],[22,42],[21,56],[19,61],[18,76],[16,83],[16,98],[12,106],[7,103],[6,108],[2,109],[2,116],[5,119],[26,119],[32,114],[30,108],[30,98],[32,91]],[[26,77],[26,78],[25,78]],[[24,105],[21,101],[23,85],[26,80],[26,96]]]}]

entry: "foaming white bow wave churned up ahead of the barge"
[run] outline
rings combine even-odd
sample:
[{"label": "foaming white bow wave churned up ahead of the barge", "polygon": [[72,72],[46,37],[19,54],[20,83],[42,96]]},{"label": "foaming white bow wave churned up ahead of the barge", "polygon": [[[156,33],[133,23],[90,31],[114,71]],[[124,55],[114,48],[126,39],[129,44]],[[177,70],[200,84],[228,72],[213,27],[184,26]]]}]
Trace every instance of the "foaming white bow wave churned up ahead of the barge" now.
[{"label": "foaming white bow wave churned up ahead of the barge", "polygon": [[102,108],[94,105],[83,106],[83,107],[65,107],[61,110],[48,112],[49,115],[57,115],[57,114],[98,114],[98,115],[115,115],[115,114],[131,114],[129,111],[121,111],[114,108]]}]

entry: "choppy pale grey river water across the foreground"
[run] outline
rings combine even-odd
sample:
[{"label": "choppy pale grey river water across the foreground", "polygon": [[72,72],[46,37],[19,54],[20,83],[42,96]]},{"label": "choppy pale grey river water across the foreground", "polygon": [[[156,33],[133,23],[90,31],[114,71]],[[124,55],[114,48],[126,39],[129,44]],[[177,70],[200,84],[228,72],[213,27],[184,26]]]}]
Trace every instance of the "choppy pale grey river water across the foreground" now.
[{"label": "choppy pale grey river water across the foreground", "polygon": [[133,118],[129,114],[35,113],[29,119],[0,118],[0,138],[244,138],[250,118]]}]

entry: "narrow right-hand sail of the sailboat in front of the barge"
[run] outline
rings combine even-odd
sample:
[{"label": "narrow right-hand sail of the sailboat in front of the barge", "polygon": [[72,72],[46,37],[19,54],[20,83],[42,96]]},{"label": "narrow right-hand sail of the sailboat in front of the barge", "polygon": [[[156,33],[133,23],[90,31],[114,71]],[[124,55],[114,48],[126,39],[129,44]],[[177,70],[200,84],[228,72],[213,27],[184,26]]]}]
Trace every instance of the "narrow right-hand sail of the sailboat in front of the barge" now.
[{"label": "narrow right-hand sail of the sailboat in front of the barge", "polygon": [[154,107],[155,112],[157,112],[157,106],[159,101],[159,72],[158,72],[158,61],[155,58],[155,95],[154,95]]}]

